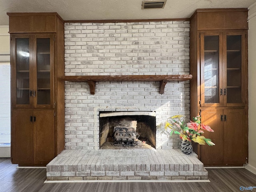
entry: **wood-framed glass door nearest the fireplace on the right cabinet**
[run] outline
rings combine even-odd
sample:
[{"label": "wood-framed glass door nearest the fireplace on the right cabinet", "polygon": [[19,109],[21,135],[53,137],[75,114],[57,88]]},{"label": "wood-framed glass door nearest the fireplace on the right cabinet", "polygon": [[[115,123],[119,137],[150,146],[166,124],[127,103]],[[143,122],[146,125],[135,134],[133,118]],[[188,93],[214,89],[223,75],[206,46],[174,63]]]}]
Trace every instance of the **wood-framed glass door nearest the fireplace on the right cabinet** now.
[{"label": "wood-framed glass door nearest the fireplace on the right cabinet", "polygon": [[201,34],[201,105],[220,104],[220,36]]}]

